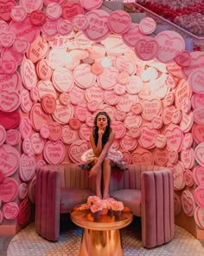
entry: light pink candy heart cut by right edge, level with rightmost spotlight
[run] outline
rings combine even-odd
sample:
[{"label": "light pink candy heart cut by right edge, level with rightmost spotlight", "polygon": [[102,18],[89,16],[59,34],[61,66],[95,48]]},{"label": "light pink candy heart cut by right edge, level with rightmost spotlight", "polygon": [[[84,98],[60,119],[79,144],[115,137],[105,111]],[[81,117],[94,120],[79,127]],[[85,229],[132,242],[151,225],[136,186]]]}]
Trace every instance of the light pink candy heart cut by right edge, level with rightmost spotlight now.
[{"label": "light pink candy heart cut by right edge, level with rightmost spotlight", "polygon": [[204,94],[204,71],[202,69],[195,69],[188,76],[188,83],[190,88],[197,94]]}]

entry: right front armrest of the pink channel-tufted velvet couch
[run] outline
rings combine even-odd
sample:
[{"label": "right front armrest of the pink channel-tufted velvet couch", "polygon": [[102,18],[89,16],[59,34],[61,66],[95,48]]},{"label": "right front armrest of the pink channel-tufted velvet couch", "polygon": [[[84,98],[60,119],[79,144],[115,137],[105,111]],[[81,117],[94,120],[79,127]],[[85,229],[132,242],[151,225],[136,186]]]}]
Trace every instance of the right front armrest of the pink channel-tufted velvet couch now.
[{"label": "right front armrest of the pink channel-tufted velvet couch", "polygon": [[151,248],[174,237],[173,177],[169,169],[143,172],[141,178],[142,241]]}]

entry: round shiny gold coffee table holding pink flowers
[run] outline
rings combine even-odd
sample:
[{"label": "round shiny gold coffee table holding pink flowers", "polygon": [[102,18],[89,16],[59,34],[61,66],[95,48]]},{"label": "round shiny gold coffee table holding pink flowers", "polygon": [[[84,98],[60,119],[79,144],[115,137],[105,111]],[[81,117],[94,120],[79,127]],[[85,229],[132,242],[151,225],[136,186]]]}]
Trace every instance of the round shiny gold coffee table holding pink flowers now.
[{"label": "round shiny gold coffee table holding pink flowers", "polygon": [[78,206],[70,215],[74,224],[84,228],[80,256],[124,255],[119,230],[131,223],[131,209],[124,207],[119,216],[105,214],[96,220],[89,209]]}]

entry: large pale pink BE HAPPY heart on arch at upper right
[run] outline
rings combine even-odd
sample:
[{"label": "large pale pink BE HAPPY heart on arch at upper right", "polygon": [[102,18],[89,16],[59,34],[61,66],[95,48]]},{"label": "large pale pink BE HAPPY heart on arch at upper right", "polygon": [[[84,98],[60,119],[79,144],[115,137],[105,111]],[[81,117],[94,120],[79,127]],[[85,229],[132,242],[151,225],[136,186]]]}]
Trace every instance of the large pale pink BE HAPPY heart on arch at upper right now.
[{"label": "large pale pink BE HAPPY heart on arch at upper right", "polygon": [[159,44],[157,60],[163,63],[172,61],[175,56],[182,53],[185,49],[185,41],[182,36],[173,31],[165,30],[155,36],[155,40]]}]

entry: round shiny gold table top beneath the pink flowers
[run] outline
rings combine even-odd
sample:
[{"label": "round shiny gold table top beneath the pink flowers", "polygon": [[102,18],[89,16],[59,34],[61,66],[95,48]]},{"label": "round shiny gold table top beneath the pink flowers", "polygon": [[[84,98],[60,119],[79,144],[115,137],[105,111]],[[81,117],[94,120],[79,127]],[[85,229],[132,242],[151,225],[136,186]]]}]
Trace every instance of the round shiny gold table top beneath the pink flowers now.
[{"label": "round shiny gold table top beneath the pink flowers", "polygon": [[[81,209],[82,208],[82,209]],[[99,220],[94,219],[90,209],[83,207],[74,207],[70,213],[71,220],[77,226],[92,230],[114,230],[128,226],[132,221],[131,209],[124,207],[121,215],[100,215]]]}]

